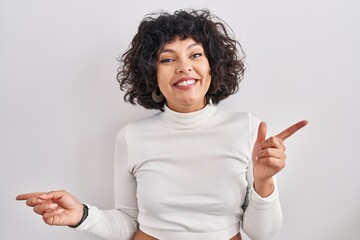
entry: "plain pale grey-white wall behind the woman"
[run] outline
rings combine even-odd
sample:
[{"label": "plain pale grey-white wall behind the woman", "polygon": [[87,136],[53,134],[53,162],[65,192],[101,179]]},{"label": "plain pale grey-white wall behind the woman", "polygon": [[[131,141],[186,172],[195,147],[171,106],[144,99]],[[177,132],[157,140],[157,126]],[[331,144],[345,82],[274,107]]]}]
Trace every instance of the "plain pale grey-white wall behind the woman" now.
[{"label": "plain pale grey-white wall behind the woman", "polygon": [[239,92],[248,111],[287,140],[278,175],[284,223],[276,240],[360,239],[360,2],[0,0],[0,239],[97,239],[50,227],[15,201],[66,189],[113,207],[115,136],[156,111],[124,103],[117,59],[145,14],[208,8],[247,55]]}]

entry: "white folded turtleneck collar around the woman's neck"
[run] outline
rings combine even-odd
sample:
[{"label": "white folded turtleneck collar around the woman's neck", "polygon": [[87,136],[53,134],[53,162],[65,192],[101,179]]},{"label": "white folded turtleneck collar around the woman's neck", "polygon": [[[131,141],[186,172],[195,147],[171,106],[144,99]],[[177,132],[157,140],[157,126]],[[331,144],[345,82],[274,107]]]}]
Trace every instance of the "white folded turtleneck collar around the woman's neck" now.
[{"label": "white folded turtleneck collar around the woman's neck", "polygon": [[165,111],[160,113],[160,118],[169,126],[179,129],[191,129],[202,126],[205,121],[210,119],[217,111],[217,107],[211,103],[203,109],[190,113],[175,112],[165,104]]}]

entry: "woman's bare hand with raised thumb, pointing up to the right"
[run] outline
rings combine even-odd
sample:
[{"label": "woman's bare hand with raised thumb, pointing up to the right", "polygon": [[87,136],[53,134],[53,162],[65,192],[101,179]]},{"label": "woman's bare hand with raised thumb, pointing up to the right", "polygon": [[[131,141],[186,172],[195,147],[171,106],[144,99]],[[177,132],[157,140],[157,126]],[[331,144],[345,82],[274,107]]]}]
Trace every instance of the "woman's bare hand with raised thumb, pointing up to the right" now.
[{"label": "woman's bare hand with raised thumb, pointing up to the right", "polygon": [[266,197],[274,190],[273,176],[285,167],[284,141],[303,128],[308,121],[300,121],[274,137],[266,138],[266,124],[259,125],[258,136],[253,148],[253,171],[255,191]]}]

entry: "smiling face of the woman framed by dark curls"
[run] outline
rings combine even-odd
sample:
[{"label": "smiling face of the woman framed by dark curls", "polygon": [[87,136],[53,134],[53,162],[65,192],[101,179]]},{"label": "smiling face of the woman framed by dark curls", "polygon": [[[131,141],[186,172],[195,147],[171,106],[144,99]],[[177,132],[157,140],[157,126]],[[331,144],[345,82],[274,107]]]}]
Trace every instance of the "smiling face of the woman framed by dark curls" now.
[{"label": "smiling face of the woman framed by dark curls", "polygon": [[202,45],[192,38],[165,44],[158,55],[157,79],[170,109],[194,112],[205,107],[211,74]]}]

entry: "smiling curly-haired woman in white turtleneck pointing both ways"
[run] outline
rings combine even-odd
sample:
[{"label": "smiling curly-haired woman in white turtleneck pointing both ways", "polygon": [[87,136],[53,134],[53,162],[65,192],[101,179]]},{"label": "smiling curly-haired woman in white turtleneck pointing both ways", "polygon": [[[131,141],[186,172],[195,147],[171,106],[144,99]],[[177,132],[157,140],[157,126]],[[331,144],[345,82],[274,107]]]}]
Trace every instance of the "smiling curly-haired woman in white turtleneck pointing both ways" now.
[{"label": "smiling curly-haired woman in white turtleneck pointing both ways", "polygon": [[244,73],[240,44],[208,11],[147,16],[119,69],[125,100],[160,112],[120,130],[115,209],[65,191],[17,196],[49,225],[105,239],[271,239],[282,222],[273,177],[284,140],[301,121],[266,139],[266,125],[216,104]]}]

